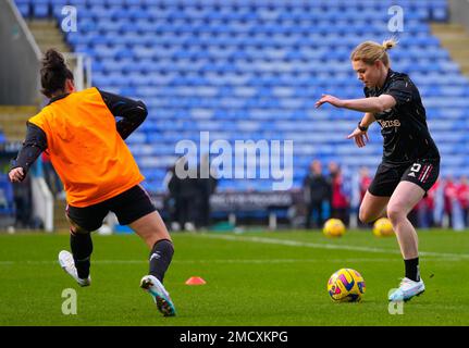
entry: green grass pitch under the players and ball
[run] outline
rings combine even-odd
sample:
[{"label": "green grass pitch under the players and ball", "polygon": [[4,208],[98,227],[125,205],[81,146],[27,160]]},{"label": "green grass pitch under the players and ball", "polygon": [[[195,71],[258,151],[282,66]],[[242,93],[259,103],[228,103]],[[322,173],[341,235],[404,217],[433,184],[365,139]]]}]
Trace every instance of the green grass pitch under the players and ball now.
[{"label": "green grass pitch under the players and ball", "polygon": [[[92,285],[79,288],[57,262],[66,234],[0,235],[0,325],[469,325],[469,233],[421,231],[425,293],[390,314],[404,263],[394,237],[347,232],[174,234],[165,286],[177,316],[162,318],[139,287],[148,250],[135,235],[94,236]],[[367,283],[360,303],[334,303],[329,276],[341,268]],[[190,276],[206,285],[187,286]],[[64,315],[62,291],[76,289]]]}]

